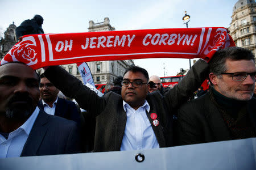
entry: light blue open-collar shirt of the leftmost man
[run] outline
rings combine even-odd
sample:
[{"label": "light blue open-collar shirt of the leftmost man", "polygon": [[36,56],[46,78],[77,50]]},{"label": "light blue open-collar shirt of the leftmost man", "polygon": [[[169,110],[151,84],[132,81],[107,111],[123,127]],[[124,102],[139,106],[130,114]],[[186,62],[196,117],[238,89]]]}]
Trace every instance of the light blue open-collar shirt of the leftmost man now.
[{"label": "light blue open-collar shirt of the leftmost man", "polygon": [[0,134],[0,158],[20,156],[39,111],[40,109],[36,107],[27,121],[18,129],[12,131],[7,140]]}]

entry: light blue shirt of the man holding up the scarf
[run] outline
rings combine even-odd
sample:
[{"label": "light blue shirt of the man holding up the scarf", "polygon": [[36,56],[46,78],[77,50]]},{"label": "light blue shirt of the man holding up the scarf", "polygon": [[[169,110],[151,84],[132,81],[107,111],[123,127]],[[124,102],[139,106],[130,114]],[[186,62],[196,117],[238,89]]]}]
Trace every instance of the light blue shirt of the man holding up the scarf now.
[{"label": "light blue shirt of the man holding up the scarf", "polygon": [[158,140],[147,118],[146,110],[147,112],[150,111],[150,105],[147,100],[136,111],[123,101],[123,109],[126,112],[127,121],[120,150],[159,148]]}]

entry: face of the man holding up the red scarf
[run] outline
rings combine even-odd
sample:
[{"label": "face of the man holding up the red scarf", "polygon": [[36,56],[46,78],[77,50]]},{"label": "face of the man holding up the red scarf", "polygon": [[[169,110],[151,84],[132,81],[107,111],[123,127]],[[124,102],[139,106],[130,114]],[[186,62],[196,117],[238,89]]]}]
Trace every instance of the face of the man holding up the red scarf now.
[{"label": "face of the man holding up the red scarf", "polygon": [[[123,80],[128,80],[129,82],[141,81],[143,83],[147,83],[146,77],[141,72],[133,73],[128,71],[123,76]],[[142,84],[141,87],[134,87],[130,83],[128,87],[122,86],[122,99],[132,108],[138,109],[144,104],[148,90],[148,84]]]}]

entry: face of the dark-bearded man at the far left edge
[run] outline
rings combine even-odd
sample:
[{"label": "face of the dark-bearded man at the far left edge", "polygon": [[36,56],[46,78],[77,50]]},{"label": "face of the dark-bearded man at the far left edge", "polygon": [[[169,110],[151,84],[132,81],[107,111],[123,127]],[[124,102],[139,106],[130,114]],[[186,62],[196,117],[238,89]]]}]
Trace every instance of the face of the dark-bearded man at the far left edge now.
[{"label": "face of the dark-bearded man at the far left edge", "polygon": [[0,114],[17,120],[28,118],[39,101],[39,77],[22,63],[0,66]]}]

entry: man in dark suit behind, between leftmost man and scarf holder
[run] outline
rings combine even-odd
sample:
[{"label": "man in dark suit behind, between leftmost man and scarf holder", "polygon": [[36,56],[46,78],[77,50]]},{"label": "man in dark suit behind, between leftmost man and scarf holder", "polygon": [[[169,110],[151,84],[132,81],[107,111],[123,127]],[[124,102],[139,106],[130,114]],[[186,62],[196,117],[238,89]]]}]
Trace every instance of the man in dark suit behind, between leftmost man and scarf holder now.
[{"label": "man in dark suit behind, between leftmost man and scarf holder", "polygon": [[78,110],[76,104],[73,101],[61,99],[58,97],[59,90],[44,76],[40,75],[40,98],[38,107],[43,109],[44,112],[67,118],[77,122],[81,126],[82,115],[80,109]]}]

